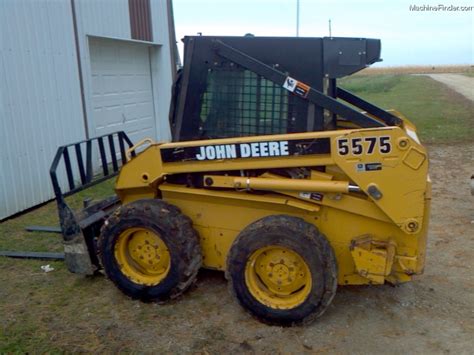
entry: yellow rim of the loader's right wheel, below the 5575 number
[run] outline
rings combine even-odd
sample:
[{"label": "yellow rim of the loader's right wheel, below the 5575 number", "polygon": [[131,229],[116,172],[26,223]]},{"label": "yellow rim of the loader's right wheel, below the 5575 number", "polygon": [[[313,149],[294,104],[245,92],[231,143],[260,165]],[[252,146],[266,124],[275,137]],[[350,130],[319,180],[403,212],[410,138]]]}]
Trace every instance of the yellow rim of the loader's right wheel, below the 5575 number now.
[{"label": "yellow rim of the loader's right wheel, below the 5575 number", "polygon": [[245,282],[252,296],[275,309],[291,309],[311,292],[311,272],[291,249],[268,246],[255,251],[245,267]]}]

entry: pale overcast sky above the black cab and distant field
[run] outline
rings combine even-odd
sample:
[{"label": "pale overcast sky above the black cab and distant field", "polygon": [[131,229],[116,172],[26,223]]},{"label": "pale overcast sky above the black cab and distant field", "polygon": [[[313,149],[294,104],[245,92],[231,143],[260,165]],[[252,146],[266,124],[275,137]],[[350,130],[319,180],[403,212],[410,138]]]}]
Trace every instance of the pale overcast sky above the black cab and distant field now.
[{"label": "pale overcast sky above the black cab and distant field", "polygon": [[[173,0],[181,58],[181,38],[198,32],[296,36],[297,1]],[[472,9],[448,11],[451,5]],[[374,66],[474,64],[473,0],[299,0],[299,8],[300,37],[329,36],[331,19],[334,37],[381,39],[383,62]]]}]

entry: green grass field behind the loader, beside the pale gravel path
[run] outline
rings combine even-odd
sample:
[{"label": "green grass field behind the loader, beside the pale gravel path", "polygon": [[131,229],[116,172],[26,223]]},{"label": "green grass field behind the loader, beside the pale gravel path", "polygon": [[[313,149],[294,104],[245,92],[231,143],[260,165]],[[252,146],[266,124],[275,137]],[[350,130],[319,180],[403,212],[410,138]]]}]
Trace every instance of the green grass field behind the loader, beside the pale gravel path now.
[{"label": "green grass field behind the loader, beside the pale gravel path", "polygon": [[435,80],[414,75],[356,75],[339,85],[384,109],[410,119],[424,142],[453,143],[472,139],[474,104]]}]

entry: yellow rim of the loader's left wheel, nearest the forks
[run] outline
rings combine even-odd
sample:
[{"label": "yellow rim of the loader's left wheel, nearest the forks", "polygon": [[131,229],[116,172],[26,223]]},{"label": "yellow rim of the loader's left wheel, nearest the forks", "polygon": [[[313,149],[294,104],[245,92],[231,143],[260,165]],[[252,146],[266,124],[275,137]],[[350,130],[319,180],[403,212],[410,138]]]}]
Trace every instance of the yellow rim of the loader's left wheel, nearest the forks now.
[{"label": "yellow rim of the loader's left wheel, nearest the forks", "polygon": [[170,252],[160,236],[146,228],[130,228],[115,243],[120,271],[131,281],[147,286],[160,283],[171,266]]}]

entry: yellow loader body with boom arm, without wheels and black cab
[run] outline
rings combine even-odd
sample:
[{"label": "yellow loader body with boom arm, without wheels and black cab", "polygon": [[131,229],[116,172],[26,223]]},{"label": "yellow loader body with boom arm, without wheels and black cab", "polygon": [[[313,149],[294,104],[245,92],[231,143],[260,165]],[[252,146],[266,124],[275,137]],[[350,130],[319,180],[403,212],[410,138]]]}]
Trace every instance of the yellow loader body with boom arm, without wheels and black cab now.
[{"label": "yellow loader body with boom arm, without wheels and black cab", "polygon": [[[424,268],[431,183],[426,149],[395,114],[401,127],[152,143],[124,165],[116,192],[125,205],[158,198],[179,207],[198,232],[206,268],[225,271],[232,243],[251,223],[289,215],[326,236],[338,284],[409,281]],[[274,173],[283,168],[309,173]],[[193,173],[203,186],[170,179]]]}]

